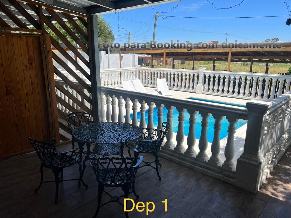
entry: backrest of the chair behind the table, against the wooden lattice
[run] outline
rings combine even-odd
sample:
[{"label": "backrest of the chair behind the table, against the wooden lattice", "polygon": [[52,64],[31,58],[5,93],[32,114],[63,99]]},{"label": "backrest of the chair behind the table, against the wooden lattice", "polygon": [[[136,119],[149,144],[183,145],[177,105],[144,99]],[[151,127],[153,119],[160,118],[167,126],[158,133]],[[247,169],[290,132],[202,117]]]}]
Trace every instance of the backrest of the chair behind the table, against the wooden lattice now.
[{"label": "backrest of the chair behind the table, against the wooden lattice", "polygon": [[70,130],[79,126],[86,125],[91,122],[91,115],[86,112],[75,112],[68,114],[66,120],[68,122],[68,128]]}]

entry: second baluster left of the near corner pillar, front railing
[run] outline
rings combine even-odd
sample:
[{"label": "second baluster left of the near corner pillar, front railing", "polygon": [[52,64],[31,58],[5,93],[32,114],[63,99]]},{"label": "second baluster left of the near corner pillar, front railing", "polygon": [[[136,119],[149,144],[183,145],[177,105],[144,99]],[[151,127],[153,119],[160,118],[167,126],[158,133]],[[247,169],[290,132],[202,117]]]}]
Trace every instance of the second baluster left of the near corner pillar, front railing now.
[{"label": "second baluster left of the near corner pillar, front railing", "polygon": [[218,115],[218,114],[212,114],[215,123],[214,123],[214,136],[213,136],[213,141],[211,144],[211,157],[208,160],[209,163],[211,164],[219,164],[220,159],[218,157],[220,153],[220,130],[221,130],[221,120],[223,119],[223,116]]}]

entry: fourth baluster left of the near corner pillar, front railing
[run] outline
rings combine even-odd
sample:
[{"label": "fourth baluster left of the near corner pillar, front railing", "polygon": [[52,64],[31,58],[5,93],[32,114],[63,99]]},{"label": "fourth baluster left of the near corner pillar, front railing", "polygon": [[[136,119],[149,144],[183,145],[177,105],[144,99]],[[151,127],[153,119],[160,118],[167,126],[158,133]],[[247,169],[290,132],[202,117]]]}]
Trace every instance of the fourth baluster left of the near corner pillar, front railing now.
[{"label": "fourth baluster left of the near corner pillar, front railing", "polygon": [[189,156],[194,156],[194,146],[196,143],[196,137],[195,137],[195,123],[196,123],[196,114],[198,111],[194,111],[192,109],[187,109],[189,112],[189,133],[188,133],[188,137],[187,137],[187,146],[188,148],[185,151],[186,155]]}]

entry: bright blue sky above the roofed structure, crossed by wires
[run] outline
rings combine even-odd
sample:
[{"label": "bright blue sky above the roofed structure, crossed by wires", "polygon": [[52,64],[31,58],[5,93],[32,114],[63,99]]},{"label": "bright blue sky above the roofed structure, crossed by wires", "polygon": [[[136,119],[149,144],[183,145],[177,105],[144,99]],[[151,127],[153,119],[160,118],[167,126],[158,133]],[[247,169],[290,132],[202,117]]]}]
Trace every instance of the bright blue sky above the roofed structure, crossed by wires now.
[{"label": "bright blue sky above the roofed structure, crossed by wires", "polygon": [[[209,0],[214,6],[226,8],[242,0]],[[291,10],[291,0],[286,0]],[[230,9],[212,8],[207,0],[182,0],[152,7],[125,10],[119,13],[102,15],[109,22],[116,36],[115,42],[128,41],[127,31],[131,32],[131,42],[149,42],[153,37],[156,10],[166,12],[162,15],[184,17],[251,17],[288,15],[285,0],[245,0],[239,6]],[[118,25],[119,16],[119,25]],[[156,42],[209,42],[219,40],[228,42],[261,42],[267,38],[278,37],[280,41],[291,41],[291,26],[287,26],[289,17],[238,18],[238,19],[192,19],[168,17],[157,19]]]}]

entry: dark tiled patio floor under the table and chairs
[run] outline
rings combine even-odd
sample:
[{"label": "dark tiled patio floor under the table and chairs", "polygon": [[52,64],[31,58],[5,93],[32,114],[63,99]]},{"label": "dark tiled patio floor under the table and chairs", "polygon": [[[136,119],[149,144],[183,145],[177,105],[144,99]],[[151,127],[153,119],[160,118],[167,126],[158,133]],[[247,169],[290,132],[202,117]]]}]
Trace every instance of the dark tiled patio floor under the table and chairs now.
[{"label": "dark tiled patio floor under the table and chairs", "polygon": [[[58,147],[59,151],[70,145]],[[152,159],[145,155],[145,159]],[[291,148],[281,159],[257,194],[251,194],[220,180],[160,158],[162,180],[155,170],[143,167],[138,171],[136,191],[138,201],[153,201],[155,210],[129,212],[129,217],[290,217],[291,216]],[[60,184],[59,201],[54,204],[54,183],[34,189],[40,181],[40,161],[35,153],[13,157],[0,162],[0,217],[92,217],[97,205],[97,181],[87,167],[84,181],[89,185],[77,187],[76,181]],[[64,170],[65,178],[77,178],[77,166]],[[45,169],[44,180],[51,180],[51,170]],[[120,188],[107,189],[111,195],[122,195]],[[129,197],[134,198],[133,194]],[[167,198],[168,211],[162,201]],[[103,202],[108,196],[103,195]],[[137,202],[137,201],[136,201]],[[129,204],[130,205],[130,204]],[[118,203],[101,207],[98,217],[125,217]]]}]

